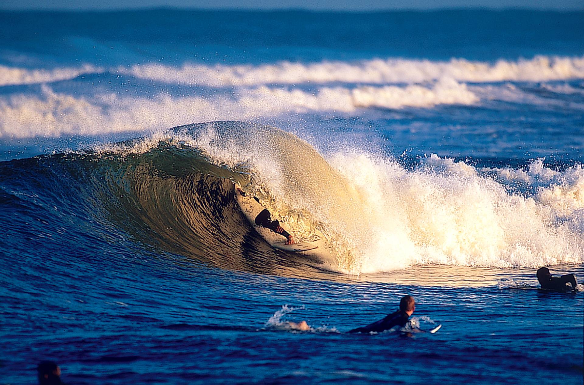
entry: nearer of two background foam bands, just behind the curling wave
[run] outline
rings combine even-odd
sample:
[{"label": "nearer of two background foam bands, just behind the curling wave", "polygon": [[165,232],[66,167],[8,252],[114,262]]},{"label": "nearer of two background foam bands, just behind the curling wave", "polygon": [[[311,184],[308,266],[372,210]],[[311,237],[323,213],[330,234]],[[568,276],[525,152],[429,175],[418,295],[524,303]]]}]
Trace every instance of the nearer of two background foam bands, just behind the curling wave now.
[{"label": "nearer of two background foam bands, just behind the curling wave", "polygon": [[40,95],[17,94],[0,98],[0,137],[100,135],[103,133],[166,129],[195,122],[253,120],[310,111],[349,114],[357,108],[438,104],[472,104],[478,100],[464,84],[439,82],[432,88],[411,85],[321,88],[317,93],[298,89],[258,87],[212,97],[153,98],[103,94],[74,97],[47,85]]}]

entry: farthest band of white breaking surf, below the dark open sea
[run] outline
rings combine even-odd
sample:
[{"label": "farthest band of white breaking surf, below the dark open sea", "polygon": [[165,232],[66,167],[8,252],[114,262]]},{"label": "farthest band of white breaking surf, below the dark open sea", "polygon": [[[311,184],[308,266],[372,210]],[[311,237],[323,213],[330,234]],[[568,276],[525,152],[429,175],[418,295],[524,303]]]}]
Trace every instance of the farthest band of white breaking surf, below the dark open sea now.
[{"label": "farthest band of white breaking surf, below the dark open sea", "polygon": [[103,68],[84,64],[77,68],[64,67],[52,70],[0,66],[0,85],[51,83],[82,74],[104,72],[132,75],[163,83],[207,87],[305,83],[411,84],[441,78],[467,83],[492,83],[581,79],[584,78],[584,57],[536,56],[533,59],[516,61],[498,60],[495,63],[465,59],[450,61],[372,59],[355,62],[322,61],[312,64],[282,61],[259,66],[225,64],[206,66],[185,63],[175,67],[149,63]]}]

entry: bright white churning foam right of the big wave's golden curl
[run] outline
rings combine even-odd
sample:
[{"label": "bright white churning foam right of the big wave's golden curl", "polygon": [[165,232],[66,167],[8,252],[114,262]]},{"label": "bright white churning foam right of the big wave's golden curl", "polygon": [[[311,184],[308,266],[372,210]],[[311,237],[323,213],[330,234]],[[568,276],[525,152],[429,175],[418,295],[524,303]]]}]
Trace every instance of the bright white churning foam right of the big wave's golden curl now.
[{"label": "bright white churning foam right of the big wave's golden curl", "polygon": [[[365,154],[337,154],[332,164],[364,205],[355,209],[363,230],[346,234],[365,250],[361,273],[425,263],[537,267],[583,260],[584,234],[572,225],[584,212],[576,199],[580,179],[570,184],[566,177],[522,197],[467,164],[437,156],[414,172]],[[541,193],[557,188],[572,194],[550,200]]]}]

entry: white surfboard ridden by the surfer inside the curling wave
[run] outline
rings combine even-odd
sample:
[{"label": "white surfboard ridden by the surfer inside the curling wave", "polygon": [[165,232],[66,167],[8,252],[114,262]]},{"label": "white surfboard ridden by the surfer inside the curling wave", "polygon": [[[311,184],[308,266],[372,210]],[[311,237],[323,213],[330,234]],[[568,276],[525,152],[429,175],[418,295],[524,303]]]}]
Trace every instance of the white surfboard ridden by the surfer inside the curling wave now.
[{"label": "white surfboard ridden by the surfer inside the curling wave", "polygon": [[239,184],[235,183],[233,185],[235,199],[241,207],[241,211],[244,213],[245,217],[248,219],[249,223],[258,231],[258,233],[262,236],[263,239],[266,240],[273,248],[284,250],[287,252],[292,253],[301,253],[307,252],[309,250],[318,249],[317,245],[313,245],[309,242],[296,242],[292,245],[286,245],[286,239],[283,236],[274,233],[270,229],[263,228],[262,226],[258,226],[255,224],[255,218],[258,216],[260,212],[265,209],[262,205],[259,204],[253,197],[249,194],[243,195],[240,191],[242,191]]}]

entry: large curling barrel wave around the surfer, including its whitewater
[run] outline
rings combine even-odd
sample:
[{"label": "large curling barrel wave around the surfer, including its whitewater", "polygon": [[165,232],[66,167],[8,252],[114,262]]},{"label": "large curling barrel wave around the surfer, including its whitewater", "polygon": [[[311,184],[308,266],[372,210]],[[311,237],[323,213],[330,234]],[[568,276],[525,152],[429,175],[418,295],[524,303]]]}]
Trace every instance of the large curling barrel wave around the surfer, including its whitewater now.
[{"label": "large curling barrel wave around the surfer, including its whitewater", "polygon": [[280,129],[215,122],[1,167],[5,215],[22,207],[47,215],[45,238],[66,231],[54,215],[74,215],[89,233],[127,234],[225,269],[303,275],[318,266],[263,242],[239,211],[232,181],[297,238],[324,233],[333,257],[319,269],[537,267],[584,257],[580,164],[473,167],[433,155],[408,165],[355,151],[325,159]]}]

